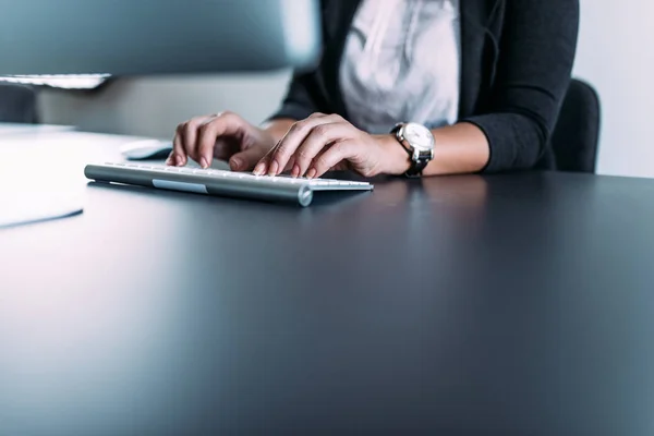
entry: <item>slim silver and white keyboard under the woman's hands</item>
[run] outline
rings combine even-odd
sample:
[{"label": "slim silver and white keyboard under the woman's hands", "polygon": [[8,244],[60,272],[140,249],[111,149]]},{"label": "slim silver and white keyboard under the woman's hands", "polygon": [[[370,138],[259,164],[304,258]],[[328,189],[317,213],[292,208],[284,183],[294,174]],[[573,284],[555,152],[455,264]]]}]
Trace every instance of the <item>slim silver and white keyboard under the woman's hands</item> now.
[{"label": "slim silver and white keyboard under the woman's hands", "polygon": [[84,175],[106,183],[269,202],[292,202],[301,206],[308,206],[314,192],[317,191],[372,191],[374,187],[366,182],[334,179],[254,175],[215,169],[111,162],[87,165]]}]

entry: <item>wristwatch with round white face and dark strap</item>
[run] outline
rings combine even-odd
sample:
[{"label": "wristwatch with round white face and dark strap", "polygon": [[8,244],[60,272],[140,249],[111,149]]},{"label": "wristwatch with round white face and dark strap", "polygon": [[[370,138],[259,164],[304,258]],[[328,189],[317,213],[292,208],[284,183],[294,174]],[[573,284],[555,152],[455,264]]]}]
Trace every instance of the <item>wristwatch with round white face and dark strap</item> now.
[{"label": "wristwatch with round white face and dark strap", "polygon": [[421,177],[427,164],[434,159],[434,135],[429,129],[417,123],[399,123],[390,132],[409,153],[411,168],[407,177]]}]

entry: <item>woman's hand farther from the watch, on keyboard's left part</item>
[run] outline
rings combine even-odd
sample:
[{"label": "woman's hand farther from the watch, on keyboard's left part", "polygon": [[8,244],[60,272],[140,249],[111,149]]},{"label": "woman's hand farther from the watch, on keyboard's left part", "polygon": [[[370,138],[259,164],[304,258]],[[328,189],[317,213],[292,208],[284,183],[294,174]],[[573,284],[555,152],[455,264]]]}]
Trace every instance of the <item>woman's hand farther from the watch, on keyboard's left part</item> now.
[{"label": "woman's hand farther from the watch, on keyboard's left part", "polygon": [[252,170],[277,141],[232,112],[197,117],[178,125],[167,165],[183,167],[189,157],[202,168],[229,160],[232,171]]}]

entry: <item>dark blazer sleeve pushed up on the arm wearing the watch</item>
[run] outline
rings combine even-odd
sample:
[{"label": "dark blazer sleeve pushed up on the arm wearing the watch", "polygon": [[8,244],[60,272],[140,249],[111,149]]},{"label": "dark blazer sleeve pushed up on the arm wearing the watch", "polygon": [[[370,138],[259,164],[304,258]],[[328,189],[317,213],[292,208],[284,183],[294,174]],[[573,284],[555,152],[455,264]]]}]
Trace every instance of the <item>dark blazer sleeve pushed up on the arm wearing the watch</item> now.
[{"label": "dark blazer sleeve pushed up on the arm wearing the watch", "polygon": [[529,169],[548,147],[571,80],[579,0],[507,0],[488,110],[461,120],[491,146],[485,172]]}]

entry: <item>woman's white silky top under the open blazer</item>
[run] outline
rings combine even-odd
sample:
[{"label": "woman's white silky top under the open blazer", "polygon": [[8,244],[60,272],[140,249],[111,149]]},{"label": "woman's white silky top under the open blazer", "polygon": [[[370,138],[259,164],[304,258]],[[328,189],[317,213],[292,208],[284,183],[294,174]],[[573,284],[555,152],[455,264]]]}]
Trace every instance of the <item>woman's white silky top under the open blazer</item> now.
[{"label": "woman's white silky top under the open blazer", "polygon": [[453,124],[460,35],[459,0],[364,0],[340,69],[350,121],[373,134],[398,122]]}]

